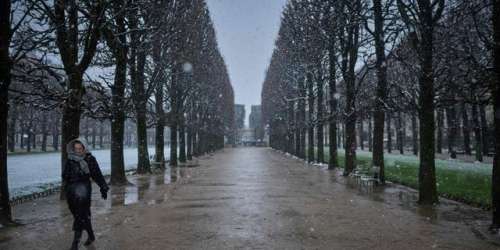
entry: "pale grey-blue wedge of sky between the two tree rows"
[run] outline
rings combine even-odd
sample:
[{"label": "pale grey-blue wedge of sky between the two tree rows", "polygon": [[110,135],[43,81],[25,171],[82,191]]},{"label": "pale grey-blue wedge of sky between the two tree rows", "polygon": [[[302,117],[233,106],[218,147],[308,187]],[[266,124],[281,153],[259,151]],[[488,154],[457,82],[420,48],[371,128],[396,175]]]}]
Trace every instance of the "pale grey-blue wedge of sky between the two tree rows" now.
[{"label": "pale grey-blue wedge of sky between the two tree rows", "polygon": [[[287,0],[207,0],[235,101],[260,104],[260,91]],[[247,119],[248,120],[248,119]]]}]

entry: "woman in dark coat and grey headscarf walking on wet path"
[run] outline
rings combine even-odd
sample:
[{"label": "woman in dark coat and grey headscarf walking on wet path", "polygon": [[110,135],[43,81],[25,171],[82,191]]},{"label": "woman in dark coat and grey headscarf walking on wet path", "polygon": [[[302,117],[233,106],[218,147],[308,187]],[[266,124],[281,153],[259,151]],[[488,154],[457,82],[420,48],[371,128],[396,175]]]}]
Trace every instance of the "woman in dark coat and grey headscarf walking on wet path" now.
[{"label": "woman in dark coat and grey headscarf walking on wet path", "polygon": [[75,232],[71,249],[78,249],[83,230],[87,231],[88,239],[85,245],[92,244],[95,240],[94,231],[90,221],[90,203],[92,194],[92,178],[100,187],[101,196],[107,198],[109,190],[104,176],[99,169],[97,160],[87,150],[80,139],[74,139],[66,146],[68,160],[62,174],[64,190],[69,210],[73,214],[73,231]]}]

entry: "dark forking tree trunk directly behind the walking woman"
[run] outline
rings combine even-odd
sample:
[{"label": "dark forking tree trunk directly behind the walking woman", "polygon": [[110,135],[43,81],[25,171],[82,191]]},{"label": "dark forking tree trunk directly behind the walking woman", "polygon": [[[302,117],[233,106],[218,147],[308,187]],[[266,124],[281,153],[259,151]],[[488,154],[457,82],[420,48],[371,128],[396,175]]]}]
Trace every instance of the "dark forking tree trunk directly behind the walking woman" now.
[{"label": "dark forking tree trunk directly behind the walking woman", "polygon": [[[59,49],[60,59],[68,79],[66,99],[63,106],[62,117],[62,151],[61,172],[67,160],[66,145],[69,141],[80,136],[80,115],[84,87],[83,74],[92,62],[96,53],[97,43],[100,39],[99,27],[104,21],[101,15],[104,4],[96,1],[88,8],[89,16],[79,15],[79,8],[84,4],[78,1],[54,1],[54,15],[50,16],[51,26],[55,29],[55,41]],[[86,29],[81,29],[80,19],[87,18],[90,23]],[[85,44],[85,46],[80,46]],[[79,53],[82,52],[82,53]],[[64,199],[64,183],[61,190],[61,199]]]}]

